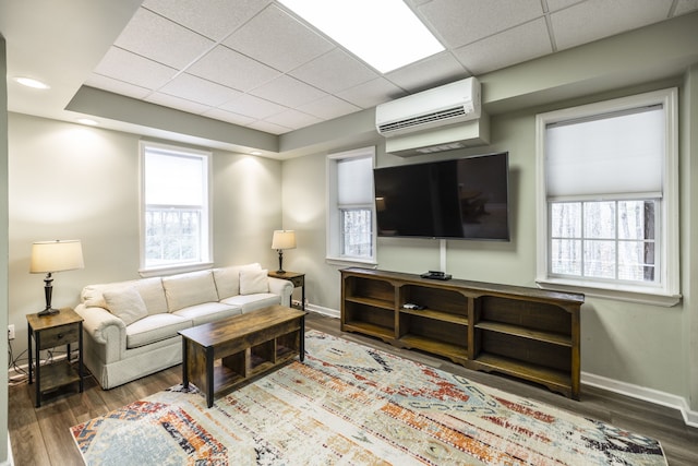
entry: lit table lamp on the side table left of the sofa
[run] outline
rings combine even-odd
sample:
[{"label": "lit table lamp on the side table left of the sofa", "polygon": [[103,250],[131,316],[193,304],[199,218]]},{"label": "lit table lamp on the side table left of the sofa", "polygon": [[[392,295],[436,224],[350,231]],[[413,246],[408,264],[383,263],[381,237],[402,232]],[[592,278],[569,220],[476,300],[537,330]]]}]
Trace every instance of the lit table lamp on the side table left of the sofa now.
[{"label": "lit table lamp on the side table left of the sofa", "polygon": [[29,273],[43,274],[44,295],[46,296],[46,309],[39,312],[39,315],[53,315],[59,312],[58,309],[51,308],[51,294],[53,291],[51,277],[52,273],[74,271],[83,268],[83,248],[80,240],[56,240],[56,241],[37,241],[32,244],[32,264]]}]

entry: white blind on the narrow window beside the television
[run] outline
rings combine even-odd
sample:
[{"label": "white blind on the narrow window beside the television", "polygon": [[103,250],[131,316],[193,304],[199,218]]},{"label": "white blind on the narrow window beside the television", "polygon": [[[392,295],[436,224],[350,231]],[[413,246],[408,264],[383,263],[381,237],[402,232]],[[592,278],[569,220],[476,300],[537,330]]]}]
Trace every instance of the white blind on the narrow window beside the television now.
[{"label": "white blind on the narrow window beside the television", "polygon": [[337,204],[373,203],[373,159],[346,158],[337,162]]}]

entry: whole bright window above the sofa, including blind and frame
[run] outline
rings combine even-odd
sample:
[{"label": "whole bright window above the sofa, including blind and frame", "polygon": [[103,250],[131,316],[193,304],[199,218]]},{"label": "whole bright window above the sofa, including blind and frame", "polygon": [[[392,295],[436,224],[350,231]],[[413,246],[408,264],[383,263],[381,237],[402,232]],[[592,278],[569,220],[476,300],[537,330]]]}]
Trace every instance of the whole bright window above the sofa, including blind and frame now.
[{"label": "whole bright window above the sofa, including blind and frame", "polygon": [[194,268],[212,262],[209,156],[141,144],[142,270]]}]

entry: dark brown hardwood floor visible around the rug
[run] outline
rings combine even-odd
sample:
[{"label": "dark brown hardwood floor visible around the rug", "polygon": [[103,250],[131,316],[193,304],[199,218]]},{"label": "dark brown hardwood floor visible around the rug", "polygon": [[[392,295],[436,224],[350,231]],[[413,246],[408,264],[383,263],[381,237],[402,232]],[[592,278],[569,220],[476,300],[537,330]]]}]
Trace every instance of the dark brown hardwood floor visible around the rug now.
[{"label": "dark brown hardwood floor visible around the rug", "polygon": [[[339,321],[310,313],[306,327],[340,335]],[[603,390],[582,385],[581,401],[575,402],[549,392],[546,389],[510,380],[501,375],[473,372],[449,361],[417,351],[404,350],[381,340],[354,334],[345,338],[381,348],[442,370],[467,377],[486,385],[516,393],[558,408],[592,417],[616,427],[653,437],[661,441],[671,466],[698,464],[698,429],[686,427],[676,410],[628,398]],[[33,385],[22,383],[9,390],[9,431],[14,464],[24,465],[81,465],[69,428],[96,416],[104,415],[136,399],[181,383],[181,366],[108,391],[88,378],[83,393],[67,392],[43,406],[34,407]],[[580,458],[583,464],[583,458]]]}]

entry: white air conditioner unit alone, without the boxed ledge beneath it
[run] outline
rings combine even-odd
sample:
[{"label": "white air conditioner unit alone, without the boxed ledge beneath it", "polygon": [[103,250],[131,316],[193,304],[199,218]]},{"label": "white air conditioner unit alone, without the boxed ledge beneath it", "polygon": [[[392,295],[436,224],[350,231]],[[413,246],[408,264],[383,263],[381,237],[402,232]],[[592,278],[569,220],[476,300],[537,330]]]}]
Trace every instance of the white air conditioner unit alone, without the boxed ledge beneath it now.
[{"label": "white air conditioner unit alone, without the boxed ledge beneath it", "polygon": [[375,108],[375,127],[385,138],[480,118],[480,82],[456,81]]}]

